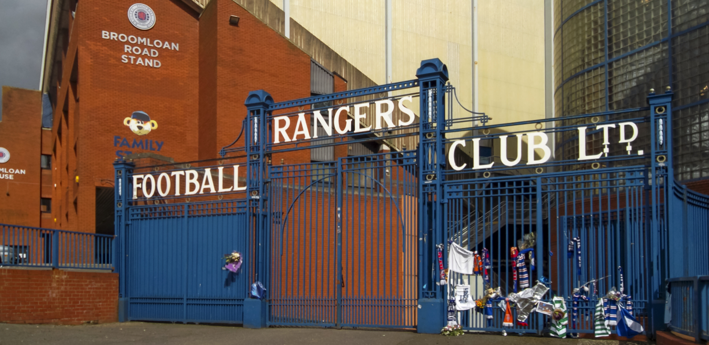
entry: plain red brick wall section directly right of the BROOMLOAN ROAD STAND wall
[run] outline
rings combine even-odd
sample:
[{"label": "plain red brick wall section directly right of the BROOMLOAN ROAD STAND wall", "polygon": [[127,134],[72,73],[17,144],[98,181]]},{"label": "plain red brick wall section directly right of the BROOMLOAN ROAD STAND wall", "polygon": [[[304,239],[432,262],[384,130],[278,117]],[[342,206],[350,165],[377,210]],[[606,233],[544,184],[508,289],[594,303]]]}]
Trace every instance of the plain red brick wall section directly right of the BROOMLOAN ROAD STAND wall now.
[{"label": "plain red brick wall section directly right of the BROOMLOAN ROAD STAND wall", "polygon": [[[230,16],[240,17],[238,26]],[[310,97],[311,57],[231,0],[211,1],[199,25],[199,150],[207,159],[238,136],[249,92],[263,89],[275,102]],[[310,163],[308,150],[289,157]]]}]

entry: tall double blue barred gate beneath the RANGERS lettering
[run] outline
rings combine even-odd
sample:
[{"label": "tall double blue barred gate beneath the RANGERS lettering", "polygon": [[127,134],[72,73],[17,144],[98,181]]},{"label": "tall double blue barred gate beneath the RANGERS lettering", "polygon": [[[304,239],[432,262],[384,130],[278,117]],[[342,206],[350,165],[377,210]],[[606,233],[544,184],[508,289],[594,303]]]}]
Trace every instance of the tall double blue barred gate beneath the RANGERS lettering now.
[{"label": "tall double blue barred gate beneath the RANGERS lettering", "polygon": [[413,154],[271,167],[268,324],[415,325]]}]

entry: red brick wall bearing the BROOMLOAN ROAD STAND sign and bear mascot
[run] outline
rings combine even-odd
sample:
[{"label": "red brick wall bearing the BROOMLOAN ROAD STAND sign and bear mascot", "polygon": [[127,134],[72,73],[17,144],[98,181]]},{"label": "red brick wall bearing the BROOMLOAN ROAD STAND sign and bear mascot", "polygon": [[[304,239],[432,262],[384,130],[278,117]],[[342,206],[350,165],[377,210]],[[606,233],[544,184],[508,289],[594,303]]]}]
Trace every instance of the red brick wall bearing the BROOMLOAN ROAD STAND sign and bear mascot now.
[{"label": "red brick wall bearing the BROOMLOAN ROAD STAND sign and bear mascot", "polygon": [[[198,148],[199,21],[182,1],[143,1],[155,11],[155,26],[147,31],[133,27],[126,15],[132,3],[97,0],[79,5],[71,40],[62,64],[60,93],[55,106],[52,146],[57,148],[53,195],[54,227],[95,231],[96,187],[113,187],[117,155],[154,152],[196,160]],[[177,43],[179,50],[105,39],[103,31]],[[157,50],[159,68],[123,62],[125,45]],[[137,61],[137,59],[135,60]],[[157,128],[138,136],[123,119],[145,111]],[[59,131],[61,128],[61,135]],[[162,142],[152,148],[117,146],[125,138]],[[119,152],[120,151],[120,152]],[[76,177],[79,182],[76,182]]]}]

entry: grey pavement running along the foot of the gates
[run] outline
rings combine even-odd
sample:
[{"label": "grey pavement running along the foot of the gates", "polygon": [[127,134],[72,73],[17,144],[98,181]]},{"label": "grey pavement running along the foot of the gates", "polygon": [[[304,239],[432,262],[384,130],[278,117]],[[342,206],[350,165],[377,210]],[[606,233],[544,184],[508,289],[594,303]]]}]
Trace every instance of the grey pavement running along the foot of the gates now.
[{"label": "grey pavement running along the foot of the gates", "polygon": [[48,324],[0,324],[0,345],[33,344],[549,344],[616,345],[648,344],[643,341],[555,339],[549,336],[510,334],[465,334],[447,337],[438,334],[389,330],[321,328],[245,329],[235,326],[125,322],[83,326]]}]

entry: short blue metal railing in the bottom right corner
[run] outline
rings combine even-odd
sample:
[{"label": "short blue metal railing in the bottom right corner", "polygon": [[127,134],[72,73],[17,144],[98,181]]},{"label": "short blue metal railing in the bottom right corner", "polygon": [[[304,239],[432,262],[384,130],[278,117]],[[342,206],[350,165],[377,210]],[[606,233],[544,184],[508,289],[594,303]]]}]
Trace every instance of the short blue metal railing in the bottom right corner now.
[{"label": "short blue metal railing in the bottom right corner", "polygon": [[709,275],[671,278],[667,283],[671,292],[669,329],[693,336],[697,343],[708,340]]}]

